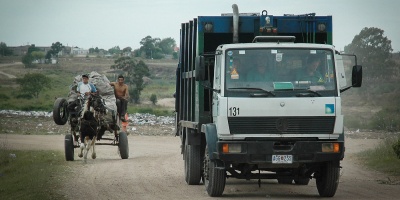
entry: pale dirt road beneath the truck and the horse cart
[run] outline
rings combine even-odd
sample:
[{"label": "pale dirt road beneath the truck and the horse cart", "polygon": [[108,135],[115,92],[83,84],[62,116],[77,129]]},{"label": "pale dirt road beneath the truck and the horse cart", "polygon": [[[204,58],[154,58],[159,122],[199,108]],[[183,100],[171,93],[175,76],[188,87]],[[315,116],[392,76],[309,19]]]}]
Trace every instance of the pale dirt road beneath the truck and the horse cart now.
[{"label": "pale dirt road beneath the truck and the horse cart", "polygon": [[[65,174],[61,193],[68,199],[319,199],[312,180],[308,186],[279,185],[276,180],[228,179],[222,198],[207,196],[204,186],[186,185],[179,138],[128,136],[130,157],[120,159],[115,146],[97,146],[97,159],[87,164],[76,156],[65,162],[73,173]],[[63,135],[0,134],[15,149],[63,151]],[[399,185],[381,184],[384,175],[361,166],[355,153],[371,148],[376,139],[346,140],[346,157],[338,191],[333,199],[398,199]]]}]

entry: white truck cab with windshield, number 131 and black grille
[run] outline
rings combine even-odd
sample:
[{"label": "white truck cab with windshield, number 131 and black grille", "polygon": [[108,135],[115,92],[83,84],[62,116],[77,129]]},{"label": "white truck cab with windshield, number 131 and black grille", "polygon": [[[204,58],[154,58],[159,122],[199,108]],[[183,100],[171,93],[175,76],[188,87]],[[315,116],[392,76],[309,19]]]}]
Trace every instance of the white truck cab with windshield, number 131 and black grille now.
[{"label": "white truck cab with windshield, number 131 and black grille", "polygon": [[216,52],[212,110],[219,139],[343,134],[346,77],[332,45],[226,44]]}]

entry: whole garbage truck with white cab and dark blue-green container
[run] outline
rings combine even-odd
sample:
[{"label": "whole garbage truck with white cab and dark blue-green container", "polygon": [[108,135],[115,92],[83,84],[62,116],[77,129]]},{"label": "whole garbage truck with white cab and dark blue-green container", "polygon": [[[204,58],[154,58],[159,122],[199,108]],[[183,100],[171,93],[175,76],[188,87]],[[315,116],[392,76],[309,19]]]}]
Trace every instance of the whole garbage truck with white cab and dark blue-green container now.
[{"label": "whole garbage truck with white cab and dark blue-green container", "polygon": [[182,23],[176,135],[188,185],[276,179],[335,195],[344,158],[341,93],[361,87],[355,55],[333,45],[332,16],[233,12]]}]

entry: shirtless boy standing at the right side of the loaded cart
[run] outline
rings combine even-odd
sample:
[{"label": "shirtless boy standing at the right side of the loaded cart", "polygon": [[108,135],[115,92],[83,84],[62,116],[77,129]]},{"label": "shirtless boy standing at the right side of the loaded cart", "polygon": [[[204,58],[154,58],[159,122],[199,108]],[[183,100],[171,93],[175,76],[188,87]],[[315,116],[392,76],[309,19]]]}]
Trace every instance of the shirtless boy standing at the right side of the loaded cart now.
[{"label": "shirtless boy standing at the right side of the loaded cart", "polygon": [[118,76],[118,82],[111,82],[110,85],[114,86],[115,97],[117,98],[117,109],[121,121],[126,122],[125,113],[128,107],[129,91],[128,85],[124,83],[124,76]]}]

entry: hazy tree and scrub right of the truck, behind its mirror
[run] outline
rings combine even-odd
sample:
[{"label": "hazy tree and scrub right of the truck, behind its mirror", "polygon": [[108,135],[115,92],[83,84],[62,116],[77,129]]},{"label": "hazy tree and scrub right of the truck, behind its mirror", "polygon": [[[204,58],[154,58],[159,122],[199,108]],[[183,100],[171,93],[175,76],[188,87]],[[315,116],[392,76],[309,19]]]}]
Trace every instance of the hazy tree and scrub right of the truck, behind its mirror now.
[{"label": "hazy tree and scrub right of the truck, behind its mirror", "polygon": [[342,94],[345,126],[353,129],[400,131],[400,54],[379,28],[364,28],[345,52],[357,55],[363,84]]}]

